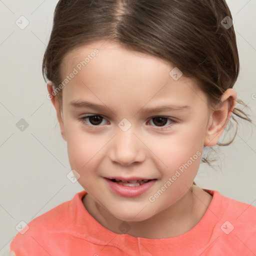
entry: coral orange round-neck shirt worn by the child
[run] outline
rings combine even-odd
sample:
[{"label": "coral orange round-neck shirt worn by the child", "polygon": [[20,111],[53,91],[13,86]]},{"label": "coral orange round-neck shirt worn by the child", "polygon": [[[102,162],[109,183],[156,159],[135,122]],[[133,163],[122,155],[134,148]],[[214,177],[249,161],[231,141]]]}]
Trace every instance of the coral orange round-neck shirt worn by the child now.
[{"label": "coral orange round-neck shirt worn by the child", "polygon": [[10,255],[255,255],[256,207],[216,190],[203,190],[213,197],[201,220],[182,235],[161,239],[111,232],[87,212],[82,203],[86,192],[78,192],[70,201],[31,220],[27,231],[11,241]]}]

